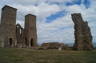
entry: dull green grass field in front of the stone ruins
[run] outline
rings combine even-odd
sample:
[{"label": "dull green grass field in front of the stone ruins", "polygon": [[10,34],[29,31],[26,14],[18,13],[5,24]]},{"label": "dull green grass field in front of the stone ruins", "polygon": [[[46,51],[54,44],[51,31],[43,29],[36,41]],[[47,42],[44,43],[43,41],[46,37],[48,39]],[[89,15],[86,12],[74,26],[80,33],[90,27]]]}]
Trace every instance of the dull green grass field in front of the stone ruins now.
[{"label": "dull green grass field in front of the stone ruins", "polygon": [[0,63],[96,63],[96,51],[0,48]]}]

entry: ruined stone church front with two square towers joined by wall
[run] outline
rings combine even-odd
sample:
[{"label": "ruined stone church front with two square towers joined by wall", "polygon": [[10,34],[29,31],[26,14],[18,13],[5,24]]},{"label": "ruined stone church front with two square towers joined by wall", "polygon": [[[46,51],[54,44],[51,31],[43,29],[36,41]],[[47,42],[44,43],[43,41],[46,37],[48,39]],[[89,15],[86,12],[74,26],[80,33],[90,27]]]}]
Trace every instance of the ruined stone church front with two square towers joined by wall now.
[{"label": "ruined stone church front with two square towers joined by wall", "polygon": [[37,45],[36,16],[25,16],[25,26],[16,24],[17,9],[5,5],[0,24],[0,47],[32,47]]}]

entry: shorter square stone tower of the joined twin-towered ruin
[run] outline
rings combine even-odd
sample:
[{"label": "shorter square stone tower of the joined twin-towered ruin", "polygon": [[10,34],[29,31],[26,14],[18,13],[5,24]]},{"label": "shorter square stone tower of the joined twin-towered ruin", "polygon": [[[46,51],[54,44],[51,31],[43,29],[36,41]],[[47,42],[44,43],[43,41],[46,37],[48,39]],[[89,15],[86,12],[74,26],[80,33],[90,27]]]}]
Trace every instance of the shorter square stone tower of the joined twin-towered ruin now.
[{"label": "shorter square stone tower of the joined twin-towered ruin", "polygon": [[28,14],[25,16],[25,45],[32,47],[37,45],[36,16]]}]

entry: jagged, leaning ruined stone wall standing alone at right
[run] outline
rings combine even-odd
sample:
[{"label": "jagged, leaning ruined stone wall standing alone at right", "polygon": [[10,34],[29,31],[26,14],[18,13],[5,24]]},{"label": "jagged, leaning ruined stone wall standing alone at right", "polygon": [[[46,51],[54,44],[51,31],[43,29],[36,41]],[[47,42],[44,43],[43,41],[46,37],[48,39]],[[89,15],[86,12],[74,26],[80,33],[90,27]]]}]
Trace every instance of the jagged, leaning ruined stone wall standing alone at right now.
[{"label": "jagged, leaning ruined stone wall standing alone at right", "polygon": [[85,22],[80,13],[72,14],[72,20],[74,22],[75,29],[75,44],[73,46],[76,50],[91,50],[92,35],[88,22]]}]

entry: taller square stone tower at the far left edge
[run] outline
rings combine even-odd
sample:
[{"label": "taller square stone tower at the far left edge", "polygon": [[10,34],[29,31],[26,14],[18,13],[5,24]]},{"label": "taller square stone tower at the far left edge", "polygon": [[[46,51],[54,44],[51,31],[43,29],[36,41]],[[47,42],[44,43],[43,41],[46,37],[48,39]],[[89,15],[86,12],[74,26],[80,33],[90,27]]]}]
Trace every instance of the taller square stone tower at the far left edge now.
[{"label": "taller square stone tower at the far left edge", "polygon": [[17,9],[7,5],[2,8],[0,24],[1,47],[14,47],[16,45],[16,12]]}]

